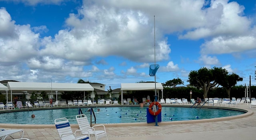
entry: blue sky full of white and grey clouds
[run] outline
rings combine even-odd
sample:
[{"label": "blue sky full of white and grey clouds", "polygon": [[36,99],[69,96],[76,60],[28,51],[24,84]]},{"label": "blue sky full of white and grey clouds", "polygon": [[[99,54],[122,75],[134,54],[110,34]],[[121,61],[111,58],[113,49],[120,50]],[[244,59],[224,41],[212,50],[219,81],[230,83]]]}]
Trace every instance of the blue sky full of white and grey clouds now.
[{"label": "blue sky full of white and grey clouds", "polygon": [[256,85],[256,0],[0,0],[0,80],[102,83],[222,67]]}]

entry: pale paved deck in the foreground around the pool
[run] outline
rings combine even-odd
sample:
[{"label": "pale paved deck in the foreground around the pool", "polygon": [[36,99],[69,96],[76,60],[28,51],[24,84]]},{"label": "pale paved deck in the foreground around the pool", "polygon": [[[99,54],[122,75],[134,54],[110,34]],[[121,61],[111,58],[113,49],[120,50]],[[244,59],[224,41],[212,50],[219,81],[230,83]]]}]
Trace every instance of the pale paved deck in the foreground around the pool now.
[{"label": "pale paved deck in the foreground around the pool", "polygon": [[[211,122],[207,122],[208,119],[206,119],[206,121],[199,123],[182,123],[182,121],[177,124],[158,123],[159,126],[154,126],[154,124],[151,126],[107,126],[106,131],[108,140],[256,139],[256,106],[250,108],[249,105],[237,105],[237,107],[232,108],[246,109],[251,114],[243,118],[212,120]],[[77,128],[71,127],[73,132],[77,130]],[[8,128],[8,125],[4,128],[15,129],[13,127]],[[60,140],[56,128],[24,128],[23,130],[24,138],[30,140]],[[14,134],[14,137],[18,138],[19,134]],[[95,140],[94,137],[91,139]]]}]

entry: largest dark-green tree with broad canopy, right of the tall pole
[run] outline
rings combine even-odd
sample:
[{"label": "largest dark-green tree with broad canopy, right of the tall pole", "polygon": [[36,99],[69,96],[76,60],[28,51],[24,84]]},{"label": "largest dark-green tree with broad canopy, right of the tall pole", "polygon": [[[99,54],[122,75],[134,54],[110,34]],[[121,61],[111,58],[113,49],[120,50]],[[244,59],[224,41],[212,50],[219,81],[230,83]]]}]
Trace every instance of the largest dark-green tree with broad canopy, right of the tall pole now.
[{"label": "largest dark-green tree with broad canopy, right of the tall pole", "polygon": [[190,85],[204,90],[204,98],[208,98],[207,93],[212,87],[218,87],[218,81],[224,76],[228,75],[226,69],[221,67],[214,67],[207,69],[203,67],[198,71],[190,71],[188,75],[188,82]]}]

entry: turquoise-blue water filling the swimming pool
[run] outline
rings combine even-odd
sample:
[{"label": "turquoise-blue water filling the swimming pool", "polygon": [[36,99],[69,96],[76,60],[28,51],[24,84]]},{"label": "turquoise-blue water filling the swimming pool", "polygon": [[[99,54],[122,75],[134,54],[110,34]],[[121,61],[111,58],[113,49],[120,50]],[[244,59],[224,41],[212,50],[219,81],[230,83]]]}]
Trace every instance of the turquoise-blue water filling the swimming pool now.
[{"label": "turquoise-blue water filling the swimming pool", "polygon": [[[100,111],[97,111],[100,108]],[[97,107],[93,108],[96,116],[96,123],[127,123],[147,122],[145,116],[147,107],[122,106],[122,107]],[[88,108],[81,108],[90,120]],[[224,116],[235,116],[245,112],[215,108],[189,108],[189,107],[162,107],[162,122],[177,120],[195,120],[206,118],[219,118]],[[31,115],[35,114],[35,118]],[[30,110],[20,112],[8,112],[0,114],[0,123],[8,124],[54,124],[54,119],[66,117],[71,124],[77,124],[76,115],[78,108]],[[121,116],[121,117],[120,117]],[[170,119],[172,118],[172,119]],[[94,118],[93,118],[94,120]]]}]

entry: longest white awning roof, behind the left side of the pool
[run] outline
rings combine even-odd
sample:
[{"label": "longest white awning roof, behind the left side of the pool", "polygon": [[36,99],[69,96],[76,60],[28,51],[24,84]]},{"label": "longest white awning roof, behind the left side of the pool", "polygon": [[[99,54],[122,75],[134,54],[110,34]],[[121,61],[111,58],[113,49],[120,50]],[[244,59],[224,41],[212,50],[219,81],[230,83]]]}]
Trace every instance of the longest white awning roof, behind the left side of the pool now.
[{"label": "longest white awning roof, behind the left side of the pool", "polygon": [[12,91],[94,91],[88,83],[8,82],[7,87]]}]

